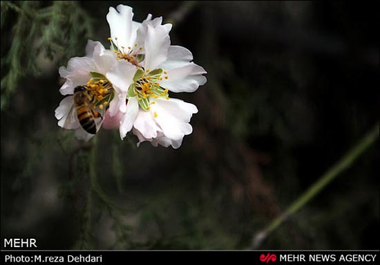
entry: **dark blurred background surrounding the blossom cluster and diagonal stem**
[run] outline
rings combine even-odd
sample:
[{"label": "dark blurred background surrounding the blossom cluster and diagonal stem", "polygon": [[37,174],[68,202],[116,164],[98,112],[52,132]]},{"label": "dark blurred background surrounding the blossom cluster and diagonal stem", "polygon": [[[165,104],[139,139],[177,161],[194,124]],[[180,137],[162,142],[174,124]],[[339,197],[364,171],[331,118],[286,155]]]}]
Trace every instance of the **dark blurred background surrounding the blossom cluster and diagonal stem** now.
[{"label": "dark blurred background surrounding the blossom cluster and diagonal stem", "polygon": [[[61,129],[58,73],[110,6],[173,23],[207,84],[180,149]],[[1,1],[1,237],[40,249],[247,249],[379,120],[379,3]],[[379,141],[262,249],[379,249]]]}]

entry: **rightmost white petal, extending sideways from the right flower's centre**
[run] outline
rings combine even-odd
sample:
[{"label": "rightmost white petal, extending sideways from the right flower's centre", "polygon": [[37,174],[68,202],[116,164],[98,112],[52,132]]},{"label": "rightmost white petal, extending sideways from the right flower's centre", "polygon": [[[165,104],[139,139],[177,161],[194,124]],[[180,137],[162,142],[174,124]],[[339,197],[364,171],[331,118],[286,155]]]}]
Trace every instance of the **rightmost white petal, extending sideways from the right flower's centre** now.
[{"label": "rightmost white petal, extending sideways from the right flower's centre", "polygon": [[193,62],[167,72],[169,78],[160,83],[162,87],[173,92],[193,92],[207,82],[207,78],[203,76],[205,69]]}]

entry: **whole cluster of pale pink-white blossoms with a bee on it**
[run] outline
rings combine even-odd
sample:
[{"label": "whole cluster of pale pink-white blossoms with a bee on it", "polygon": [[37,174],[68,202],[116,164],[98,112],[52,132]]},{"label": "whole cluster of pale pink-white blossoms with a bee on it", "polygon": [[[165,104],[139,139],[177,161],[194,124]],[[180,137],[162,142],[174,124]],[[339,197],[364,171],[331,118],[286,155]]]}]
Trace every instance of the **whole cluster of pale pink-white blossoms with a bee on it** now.
[{"label": "whole cluster of pale pink-white blossoms with a bee on it", "polygon": [[111,30],[110,49],[88,40],[86,56],[73,57],[59,74],[68,95],[55,110],[58,125],[75,129],[88,140],[100,127],[129,131],[140,143],[178,148],[191,134],[195,105],[169,97],[170,92],[193,92],[205,84],[205,69],[192,62],[187,48],[171,45],[171,24],[148,15],[133,21],[132,8],[119,5],[106,16]]}]

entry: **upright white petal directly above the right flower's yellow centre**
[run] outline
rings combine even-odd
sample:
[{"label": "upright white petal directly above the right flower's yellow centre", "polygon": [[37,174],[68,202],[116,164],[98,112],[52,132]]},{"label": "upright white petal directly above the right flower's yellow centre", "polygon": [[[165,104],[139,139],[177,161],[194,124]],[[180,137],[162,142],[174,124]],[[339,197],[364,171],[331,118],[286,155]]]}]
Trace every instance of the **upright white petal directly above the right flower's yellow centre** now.
[{"label": "upright white petal directly above the right flower's yellow centre", "polygon": [[167,60],[170,37],[167,28],[158,26],[153,28],[147,25],[146,37],[144,39],[144,68],[151,70],[157,68]]}]

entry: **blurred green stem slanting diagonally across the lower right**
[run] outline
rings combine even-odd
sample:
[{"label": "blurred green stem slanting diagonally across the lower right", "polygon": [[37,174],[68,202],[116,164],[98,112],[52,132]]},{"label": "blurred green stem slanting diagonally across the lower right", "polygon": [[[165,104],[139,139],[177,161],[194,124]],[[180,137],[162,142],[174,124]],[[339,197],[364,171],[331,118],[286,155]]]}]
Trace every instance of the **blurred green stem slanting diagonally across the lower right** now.
[{"label": "blurred green stem slanting diagonally across the lower right", "polygon": [[313,199],[316,194],[321,192],[325,186],[330,183],[336,176],[339,176],[344,170],[348,169],[354,163],[354,161],[365,152],[368,147],[370,147],[377,139],[379,138],[379,122],[374,125],[374,127],[365,134],[365,136],[348,151],[348,153],[341,158],[341,160],[330,167],[330,170],[327,170],[318,181],[316,181],[309,189],[307,189],[296,201],[294,201],[289,207],[281,214],[279,217],[274,219],[272,223],[269,223],[269,226],[264,230],[258,232],[252,241],[252,248],[258,248],[258,246],[263,242],[265,238],[278,226],[286,221],[292,214],[300,210],[303,205],[308,203]]}]

